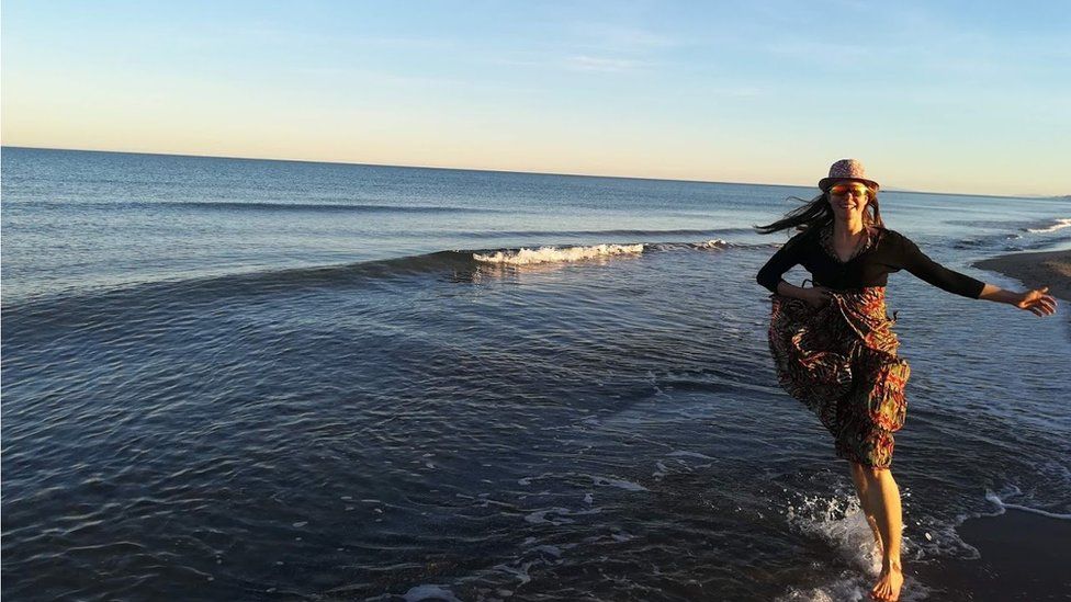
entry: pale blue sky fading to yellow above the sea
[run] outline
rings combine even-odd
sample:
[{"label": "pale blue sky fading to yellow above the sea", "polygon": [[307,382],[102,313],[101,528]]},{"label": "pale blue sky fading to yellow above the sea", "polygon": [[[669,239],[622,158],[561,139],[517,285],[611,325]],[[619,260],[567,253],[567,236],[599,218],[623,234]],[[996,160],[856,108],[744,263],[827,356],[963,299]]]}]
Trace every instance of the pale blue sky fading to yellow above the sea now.
[{"label": "pale blue sky fading to yellow above the sea", "polygon": [[1071,194],[1071,4],[3,0],[0,141]]}]

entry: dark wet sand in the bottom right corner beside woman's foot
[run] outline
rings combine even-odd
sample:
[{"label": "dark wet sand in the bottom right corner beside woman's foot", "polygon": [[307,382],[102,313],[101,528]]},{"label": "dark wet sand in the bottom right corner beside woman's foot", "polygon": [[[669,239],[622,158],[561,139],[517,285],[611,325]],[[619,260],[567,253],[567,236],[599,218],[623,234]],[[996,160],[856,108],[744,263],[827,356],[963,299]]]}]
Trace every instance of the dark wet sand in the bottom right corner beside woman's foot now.
[{"label": "dark wet sand in the bottom right corner beside woman's foot", "polygon": [[932,588],[931,600],[1071,600],[1071,521],[1007,509],[957,531],[981,558],[905,567]]}]

